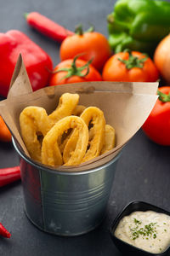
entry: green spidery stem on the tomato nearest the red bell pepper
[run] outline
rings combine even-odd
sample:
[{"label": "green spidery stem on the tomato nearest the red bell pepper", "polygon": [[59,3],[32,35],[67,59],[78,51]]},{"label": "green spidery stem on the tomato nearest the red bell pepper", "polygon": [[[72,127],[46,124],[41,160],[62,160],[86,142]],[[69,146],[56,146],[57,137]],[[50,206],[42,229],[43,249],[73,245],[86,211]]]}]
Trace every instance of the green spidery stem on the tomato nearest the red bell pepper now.
[{"label": "green spidery stem on the tomato nearest the red bell pepper", "polygon": [[[82,55],[82,54],[80,54]],[[58,70],[54,71],[54,73],[59,73],[61,71],[65,71],[67,72],[67,74],[62,78],[62,79],[69,79],[71,78],[72,76],[78,76],[78,77],[85,77],[88,75],[89,73],[89,65],[90,63],[93,61],[93,59],[89,60],[85,65],[83,65],[82,67],[77,67],[77,64],[76,64],[76,61],[77,61],[77,58],[80,56],[80,55],[76,55],[71,63],[71,67],[63,67],[63,68],[59,68]],[[82,73],[82,71],[84,69],[87,68],[87,72],[86,73]],[[61,80],[62,80],[61,79]]]}]

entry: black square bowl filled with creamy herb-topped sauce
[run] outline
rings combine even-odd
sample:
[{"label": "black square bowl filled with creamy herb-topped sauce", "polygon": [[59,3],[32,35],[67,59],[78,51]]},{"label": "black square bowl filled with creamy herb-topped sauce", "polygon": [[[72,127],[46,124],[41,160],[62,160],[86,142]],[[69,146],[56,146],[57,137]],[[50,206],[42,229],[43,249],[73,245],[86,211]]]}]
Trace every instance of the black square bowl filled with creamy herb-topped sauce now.
[{"label": "black square bowl filled with creamy herb-topped sauce", "polygon": [[170,249],[170,212],[133,201],[111,225],[111,238],[125,254],[166,255]]}]

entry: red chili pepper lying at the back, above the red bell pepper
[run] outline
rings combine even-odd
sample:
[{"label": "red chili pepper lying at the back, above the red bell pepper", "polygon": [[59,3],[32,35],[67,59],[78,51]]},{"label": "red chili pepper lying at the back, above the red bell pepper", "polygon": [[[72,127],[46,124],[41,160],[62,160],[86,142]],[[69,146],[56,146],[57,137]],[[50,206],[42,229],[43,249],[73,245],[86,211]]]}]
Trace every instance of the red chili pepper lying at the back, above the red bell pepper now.
[{"label": "red chili pepper lying at the back, above the red bell pepper", "polygon": [[38,32],[41,32],[43,35],[48,36],[59,43],[68,36],[74,34],[74,32],[65,29],[65,27],[60,26],[58,23],[49,20],[47,17],[40,15],[37,12],[26,14],[26,21],[30,26],[37,29]]}]

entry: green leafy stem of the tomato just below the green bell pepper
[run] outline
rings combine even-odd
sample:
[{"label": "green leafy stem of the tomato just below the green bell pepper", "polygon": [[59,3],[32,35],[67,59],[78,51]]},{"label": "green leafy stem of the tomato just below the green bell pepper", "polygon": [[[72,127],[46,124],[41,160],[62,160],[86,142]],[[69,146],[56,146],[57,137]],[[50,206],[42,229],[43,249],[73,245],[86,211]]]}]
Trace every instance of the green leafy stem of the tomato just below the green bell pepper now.
[{"label": "green leafy stem of the tomato just below the green bell pepper", "polygon": [[131,50],[129,49],[125,49],[124,52],[128,52],[128,59],[123,60],[121,58],[118,58],[118,60],[124,63],[127,69],[131,69],[133,67],[144,67],[144,62],[148,59],[147,56],[143,59],[139,59],[137,56],[133,56]]}]

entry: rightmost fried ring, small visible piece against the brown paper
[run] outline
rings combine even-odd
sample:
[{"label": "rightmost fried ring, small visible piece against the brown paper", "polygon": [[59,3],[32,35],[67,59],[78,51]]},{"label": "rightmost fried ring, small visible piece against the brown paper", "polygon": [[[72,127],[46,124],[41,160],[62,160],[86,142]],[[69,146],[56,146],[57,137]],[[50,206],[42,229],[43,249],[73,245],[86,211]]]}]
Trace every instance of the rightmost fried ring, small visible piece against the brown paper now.
[{"label": "rightmost fried ring, small visible piece against the brown paper", "polygon": [[111,125],[105,125],[105,143],[100,154],[105,154],[115,147],[115,129]]}]

